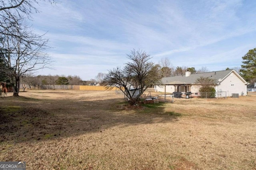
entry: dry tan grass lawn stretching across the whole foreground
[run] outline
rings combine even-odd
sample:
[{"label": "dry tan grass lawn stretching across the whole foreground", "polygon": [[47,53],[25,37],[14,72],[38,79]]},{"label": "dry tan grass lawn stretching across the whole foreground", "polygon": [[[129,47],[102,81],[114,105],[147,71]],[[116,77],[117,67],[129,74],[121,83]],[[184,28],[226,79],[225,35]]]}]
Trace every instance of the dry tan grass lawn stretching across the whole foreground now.
[{"label": "dry tan grass lawn stretching across the whole foreground", "polygon": [[129,108],[111,91],[0,98],[0,160],[28,170],[256,170],[256,94]]}]

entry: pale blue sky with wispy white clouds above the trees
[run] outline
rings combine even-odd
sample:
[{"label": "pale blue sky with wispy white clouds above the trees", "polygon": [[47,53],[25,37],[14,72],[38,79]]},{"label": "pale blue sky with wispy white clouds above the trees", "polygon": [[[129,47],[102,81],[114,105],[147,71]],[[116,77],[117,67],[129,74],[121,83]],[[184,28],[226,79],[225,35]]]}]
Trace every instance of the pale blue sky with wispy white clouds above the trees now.
[{"label": "pale blue sky with wispy white clouds above the trees", "polygon": [[123,67],[132,49],[158,64],[203,66],[209,71],[240,67],[256,48],[255,0],[56,0],[40,1],[35,33],[50,39],[52,68],[41,75],[77,75]]}]

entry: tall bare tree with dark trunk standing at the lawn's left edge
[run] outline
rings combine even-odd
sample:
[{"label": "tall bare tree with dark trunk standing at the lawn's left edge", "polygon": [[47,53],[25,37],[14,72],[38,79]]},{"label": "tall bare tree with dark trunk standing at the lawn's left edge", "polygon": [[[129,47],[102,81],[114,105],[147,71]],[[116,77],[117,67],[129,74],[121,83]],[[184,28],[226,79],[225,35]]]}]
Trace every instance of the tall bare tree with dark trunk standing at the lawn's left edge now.
[{"label": "tall bare tree with dark trunk standing at the lawn's left edge", "polygon": [[[12,24],[9,23],[10,27]],[[12,27],[12,34],[16,36],[5,34],[3,41],[3,56],[8,63],[8,72],[5,73],[13,84],[14,96],[19,94],[22,75],[48,67],[50,64],[50,57],[45,52],[49,40],[44,39],[43,35],[32,33],[24,19],[20,19],[17,24],[19,27]]]}]

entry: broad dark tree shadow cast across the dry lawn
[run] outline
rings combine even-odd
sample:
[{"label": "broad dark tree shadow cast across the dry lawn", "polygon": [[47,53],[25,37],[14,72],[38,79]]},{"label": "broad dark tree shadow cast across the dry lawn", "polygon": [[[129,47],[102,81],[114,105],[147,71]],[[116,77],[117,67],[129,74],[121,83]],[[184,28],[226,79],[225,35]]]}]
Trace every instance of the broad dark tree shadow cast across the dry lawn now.
[{"label": "broad dark tree shadow cast across the dry lawn", "polygon": [[[37,99],[36,99],[37,100]],[[165,103],[131,108],[124,99],[72,101],[33,98],[1,100],[0,143],[42,141],[85,133],[102,132],[114,126],[177,121],[181,113],[165,112]],[[34,103],[33,103],[34,102]]]}]

